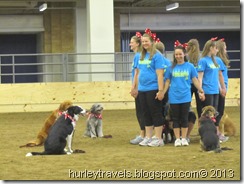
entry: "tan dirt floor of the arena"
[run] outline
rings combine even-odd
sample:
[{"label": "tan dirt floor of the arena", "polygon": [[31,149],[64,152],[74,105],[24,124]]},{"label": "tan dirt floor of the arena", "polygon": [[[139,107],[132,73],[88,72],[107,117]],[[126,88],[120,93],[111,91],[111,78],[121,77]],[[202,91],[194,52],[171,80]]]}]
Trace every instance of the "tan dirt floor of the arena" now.
[{"label": "tan dirt floor of the arena", "polygon": [[226,112],[237,127],[237,135],[221,146],[222,153],[200,151],[197,124],[188,147],[140,147],[129,144],[139,133],[134,110],[103,113],[104,134],[112,139],[83,137],[85,117],[80,118],[73,149],[86,153],[25,157],[43,146],[19,148],[36,138],[50,112],[0,114],[1,180],[240,180],[240,107]]}]

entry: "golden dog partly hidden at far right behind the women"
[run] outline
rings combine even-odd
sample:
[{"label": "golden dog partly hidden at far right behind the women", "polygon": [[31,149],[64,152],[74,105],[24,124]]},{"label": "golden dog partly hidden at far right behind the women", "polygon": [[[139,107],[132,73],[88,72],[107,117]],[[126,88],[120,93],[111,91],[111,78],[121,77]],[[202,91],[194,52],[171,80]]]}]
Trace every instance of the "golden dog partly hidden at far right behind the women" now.
[{"label": "golden dog partly hidden at far right behind the women", "polygon": [[236,126],[234,122],[229,118],[228,114],[225,112],[219,123],[219,131],[223,135],[235,136]]}]

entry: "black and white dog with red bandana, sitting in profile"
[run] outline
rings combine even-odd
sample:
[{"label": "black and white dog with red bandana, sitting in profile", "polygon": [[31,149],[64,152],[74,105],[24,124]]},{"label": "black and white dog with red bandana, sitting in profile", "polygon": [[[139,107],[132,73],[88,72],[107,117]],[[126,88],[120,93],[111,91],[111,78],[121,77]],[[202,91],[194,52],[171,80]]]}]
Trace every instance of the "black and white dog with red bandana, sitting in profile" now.
[{"label": "black and white dog with red bandana, sitting in profile", "polygon": [[50,132],[44,142],[43,152],[30,152],[26,156],[34,155],[62,155],[71,154],[64,150],[66,146],[66,139],[68,135],[71,135],[74,127],[73,124],[79,118],[80,114],[84,114],[85,110],[79,106],[70,106],[65,113],[56,120],[51,127]]}]

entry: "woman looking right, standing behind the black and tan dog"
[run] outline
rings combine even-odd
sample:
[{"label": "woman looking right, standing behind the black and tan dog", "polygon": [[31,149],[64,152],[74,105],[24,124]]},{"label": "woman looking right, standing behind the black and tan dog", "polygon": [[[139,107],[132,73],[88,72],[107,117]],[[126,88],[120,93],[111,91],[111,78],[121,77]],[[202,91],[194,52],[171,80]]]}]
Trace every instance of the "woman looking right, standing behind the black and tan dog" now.
[{"label": "woman looking right, standing behind the black and tan dog", "polygon": [[[205,100],[202,107],[211,105],[218,110],[219,92],[222,96],[226,95],[226,87],[222,71],[223,61],[216,57],[218,52],[216,38],[208,40],[202,51],[202,58],[198,62],[198,79],[205,92]],[[216,121],[217,134],[219,135],[219,121]],[[219,136],[221,141],[221,136]],[[224,138],[223,141],[225,141]]]}]

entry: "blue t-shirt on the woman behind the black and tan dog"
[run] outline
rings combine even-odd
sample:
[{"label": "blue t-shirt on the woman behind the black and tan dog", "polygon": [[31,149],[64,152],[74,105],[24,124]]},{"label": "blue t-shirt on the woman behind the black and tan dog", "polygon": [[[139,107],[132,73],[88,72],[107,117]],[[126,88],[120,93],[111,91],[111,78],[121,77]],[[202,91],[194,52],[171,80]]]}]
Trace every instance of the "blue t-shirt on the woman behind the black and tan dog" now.
[{"label": "blue t-shirt on the woman behind the black and tan dog", "polygon": [[[216,62],[218,59],[215,57]],[[198,62],[198,72],[203,72],[202,89],[205,94],[219,94],[219,70],[212,61],[212,58],[205,56]]]}]

